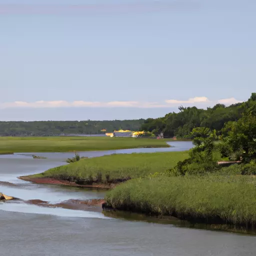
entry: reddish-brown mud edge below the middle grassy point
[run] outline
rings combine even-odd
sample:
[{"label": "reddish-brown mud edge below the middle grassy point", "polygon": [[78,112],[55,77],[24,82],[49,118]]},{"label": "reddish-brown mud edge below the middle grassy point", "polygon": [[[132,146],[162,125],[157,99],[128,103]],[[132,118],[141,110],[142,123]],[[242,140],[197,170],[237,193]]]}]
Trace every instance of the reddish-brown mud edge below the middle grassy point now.
[{"label": "reddish-brown mud edge below the middle grassy point", "polygon": [[26,181],[35,182],[38,184],[55,184],[55,185],[68,185],[68,186],[79,186],[79,187],[112,188],[116,185],[114,183],[110,183],[110,184],[92,183],[92,184],[83,185],[83,184],[77,184],[75,182],[71,182],[68,180],[55,179],[50,177],[37,178],[37,177],[29,177],[29,176],[20,176],[18,178]]}]

